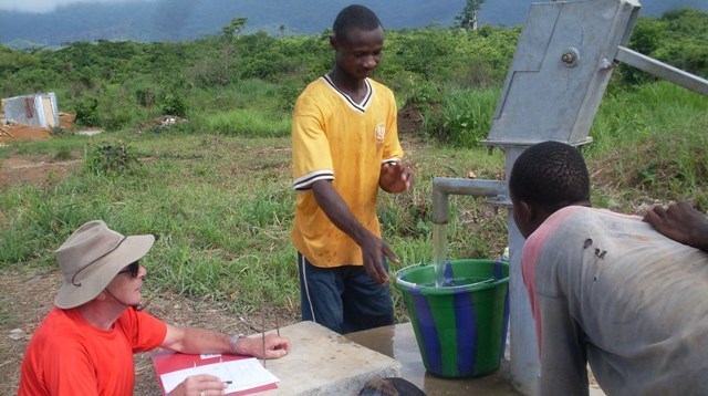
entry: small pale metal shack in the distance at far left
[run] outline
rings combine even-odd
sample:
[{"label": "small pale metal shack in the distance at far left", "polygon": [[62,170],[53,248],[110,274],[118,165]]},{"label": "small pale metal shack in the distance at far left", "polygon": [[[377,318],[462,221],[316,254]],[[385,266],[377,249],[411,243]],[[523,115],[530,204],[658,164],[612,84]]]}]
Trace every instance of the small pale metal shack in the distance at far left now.
[{"label": "small pale metal shack in the distance at far left", "polygon": [[59,106],[53,92],[3,98],[2,113],[3,124],[59,126]]}]

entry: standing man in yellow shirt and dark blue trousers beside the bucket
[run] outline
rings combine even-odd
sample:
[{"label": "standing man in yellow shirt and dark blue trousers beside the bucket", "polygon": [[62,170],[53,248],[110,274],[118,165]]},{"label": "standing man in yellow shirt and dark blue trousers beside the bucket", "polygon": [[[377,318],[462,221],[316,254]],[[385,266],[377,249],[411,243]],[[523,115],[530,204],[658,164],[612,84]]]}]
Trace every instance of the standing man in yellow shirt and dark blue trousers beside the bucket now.
[{"label": "standing man in yellow shirt and dark blue trousers beside the bucket", "polygon": [[293,187],[299,191],[291,238],[298,249],[302,319],[339,333],[393,324],[378,188],[403,192],[396,102],[369,79],[381,61],[384,30],[362,6],[343,9],[330,43],[333,70],[295,104]]}]

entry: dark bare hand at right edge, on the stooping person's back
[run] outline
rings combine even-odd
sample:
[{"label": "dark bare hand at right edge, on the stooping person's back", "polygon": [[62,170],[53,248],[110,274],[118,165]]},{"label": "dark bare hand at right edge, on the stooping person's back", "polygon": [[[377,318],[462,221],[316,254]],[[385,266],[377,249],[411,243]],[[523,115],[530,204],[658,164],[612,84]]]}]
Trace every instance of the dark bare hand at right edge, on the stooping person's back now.
[{"label": "dark bare hand at right edge, on the stooping person's back", "polygon": [[686,202],[654,207],[644,221],[675,241],[708,252],[708,219]]}]

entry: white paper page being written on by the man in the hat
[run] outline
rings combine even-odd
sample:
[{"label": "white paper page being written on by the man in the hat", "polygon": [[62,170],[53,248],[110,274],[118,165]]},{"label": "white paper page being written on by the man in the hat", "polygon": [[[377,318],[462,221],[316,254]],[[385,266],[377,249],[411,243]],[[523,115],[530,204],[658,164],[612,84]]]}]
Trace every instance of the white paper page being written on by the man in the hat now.
[{"label": "white paper page being written on by the man in the hat", "polygon": [[223,382],[230,381],[231,384],[225,389],[227,394],[280,382],[278,377],[263,368],[256,357],[251,357],[240,361],[212,363],[163,374],[160,375],[160,379],[163,381],[165,393],[170,393],[188,376],[198,374],[210,374],[219,377]]}]

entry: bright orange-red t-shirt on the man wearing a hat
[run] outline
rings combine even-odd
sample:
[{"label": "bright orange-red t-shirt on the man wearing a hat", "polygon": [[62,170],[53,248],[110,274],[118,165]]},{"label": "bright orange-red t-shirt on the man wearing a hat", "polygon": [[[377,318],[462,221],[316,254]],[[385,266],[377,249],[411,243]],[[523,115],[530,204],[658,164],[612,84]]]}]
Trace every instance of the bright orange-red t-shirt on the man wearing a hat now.
[{"label": "bright orange-red t-shirt on the man wearing a hat", "polygon": [[159,346],[166,334],[164,322],[134,309],[104,331],[77,309],[53,308],[27,347],[18,395],[132,395],[133,354]]}]

